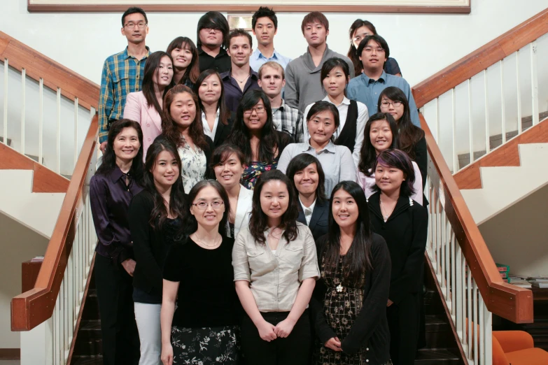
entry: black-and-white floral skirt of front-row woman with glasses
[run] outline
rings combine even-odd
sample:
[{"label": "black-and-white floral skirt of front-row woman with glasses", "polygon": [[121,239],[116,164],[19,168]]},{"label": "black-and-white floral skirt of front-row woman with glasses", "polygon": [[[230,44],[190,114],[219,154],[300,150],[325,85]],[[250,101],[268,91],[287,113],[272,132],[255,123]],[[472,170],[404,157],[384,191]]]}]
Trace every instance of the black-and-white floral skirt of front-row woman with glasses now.
[{"label": "black-and-white floral skirt of front-row woman with glasses", "polygon": [[171,327],[174,364],[235,365],[239,360],[237,326]]}]

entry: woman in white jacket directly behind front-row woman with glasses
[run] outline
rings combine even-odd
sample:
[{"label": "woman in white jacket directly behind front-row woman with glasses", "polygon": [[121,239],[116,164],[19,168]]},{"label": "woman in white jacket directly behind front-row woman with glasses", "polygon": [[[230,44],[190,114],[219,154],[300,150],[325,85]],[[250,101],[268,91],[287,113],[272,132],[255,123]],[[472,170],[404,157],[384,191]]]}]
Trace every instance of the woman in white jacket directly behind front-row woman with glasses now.
[{"label": "woman in white jacket directly behind front-row woman with glasses", "polygon": [[238,232],[249,224],[251,199],[253,191],[240,184],[244,173],[245,157],[235,145],[221,145],[211,155],[211,169],[215,178],[223,185],[230,201],[228,214],[229,237],[236,237]]}]

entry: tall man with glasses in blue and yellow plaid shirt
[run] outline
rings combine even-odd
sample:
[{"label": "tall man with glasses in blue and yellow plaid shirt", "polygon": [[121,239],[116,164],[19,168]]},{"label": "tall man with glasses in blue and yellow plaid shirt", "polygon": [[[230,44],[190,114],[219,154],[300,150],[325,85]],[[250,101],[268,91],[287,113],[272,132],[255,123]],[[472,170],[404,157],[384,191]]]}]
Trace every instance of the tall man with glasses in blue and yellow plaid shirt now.
[{"label": "tall man with glasses in blue and yellow plaid shirt", "polygon": [[105,60],[101,75],[99,96],[99,143],[104,153],[108,127],[122,119],[125,98],[130,92],[138,92],[143,85],[146,59],[150,50],[145,45],[148,20],[141,8],[132,7],[122,15],[122,36],[127,38],[127,47]]}]

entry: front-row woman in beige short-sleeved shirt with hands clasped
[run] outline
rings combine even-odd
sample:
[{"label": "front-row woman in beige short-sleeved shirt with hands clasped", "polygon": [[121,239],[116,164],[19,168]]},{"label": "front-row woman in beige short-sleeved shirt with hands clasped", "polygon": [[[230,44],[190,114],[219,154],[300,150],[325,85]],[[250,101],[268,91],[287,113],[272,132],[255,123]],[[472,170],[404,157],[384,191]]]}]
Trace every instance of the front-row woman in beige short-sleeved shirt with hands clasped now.
[{"label": "front-row woman in beige short-sleeved shirt with hands clasped", "polygon": [[262,173],[249,227],[232,250],[236,292],[246,312],[241,348],[249,364],[309,364],[307,308],[320,273],[314,238],[297,213],[289,178],[277,170]]}]

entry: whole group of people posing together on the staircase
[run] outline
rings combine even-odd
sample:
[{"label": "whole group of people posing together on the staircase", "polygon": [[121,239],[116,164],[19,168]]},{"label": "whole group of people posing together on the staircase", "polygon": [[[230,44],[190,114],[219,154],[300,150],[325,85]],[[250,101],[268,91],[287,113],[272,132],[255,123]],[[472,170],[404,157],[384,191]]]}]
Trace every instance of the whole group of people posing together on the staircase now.
[{"label": "whole group of people posing together on the staircase", "polygon": [[423,333],[426,141],[373,24],[348,57],[202,16],[145,45],[141,8],[101,77],[90,182],[104,364],[414,364]]}]

